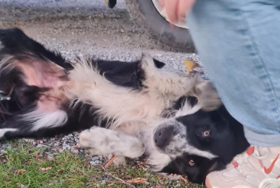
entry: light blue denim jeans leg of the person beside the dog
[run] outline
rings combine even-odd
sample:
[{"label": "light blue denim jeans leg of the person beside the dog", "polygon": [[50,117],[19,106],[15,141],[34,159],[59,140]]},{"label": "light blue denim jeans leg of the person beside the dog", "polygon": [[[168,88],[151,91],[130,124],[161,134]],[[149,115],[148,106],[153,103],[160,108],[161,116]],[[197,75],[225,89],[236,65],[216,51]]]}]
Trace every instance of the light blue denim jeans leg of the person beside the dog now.
[{"label": "light blue denim jeans leg of the person beside the dog", "polygon": [[248,142],[280,146],[280,0],[197,0],[187,24]]}]

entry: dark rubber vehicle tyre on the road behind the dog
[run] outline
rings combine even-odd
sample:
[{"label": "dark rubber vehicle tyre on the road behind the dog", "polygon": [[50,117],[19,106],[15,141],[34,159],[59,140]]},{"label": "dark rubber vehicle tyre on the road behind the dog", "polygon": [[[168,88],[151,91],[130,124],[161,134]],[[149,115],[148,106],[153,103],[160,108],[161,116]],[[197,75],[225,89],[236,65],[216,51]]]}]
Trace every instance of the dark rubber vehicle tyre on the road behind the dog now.
[{"label": "dark rubber vehicle tyre on the road behind the dog", "polygon": [[147,32],[161,46],[175,52],[195,52],[186,22],[171,28],[158,0],[125,0],[127,11],[142,32]]}]

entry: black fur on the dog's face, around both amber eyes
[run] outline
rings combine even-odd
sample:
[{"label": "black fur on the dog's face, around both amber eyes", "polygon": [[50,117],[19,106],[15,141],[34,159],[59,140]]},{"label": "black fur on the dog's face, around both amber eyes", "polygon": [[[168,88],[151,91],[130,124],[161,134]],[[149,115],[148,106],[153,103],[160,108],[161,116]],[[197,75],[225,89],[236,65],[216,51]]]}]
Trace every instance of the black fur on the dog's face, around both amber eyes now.
[{"label": "black fur on the dog's face, around both amber eyes", "polygon": [[[178,117],[177,120],[187,127],[187,140],[191,145],[210,151],[218,157],[207,159],[184,153],[182,157],[173,159],[163,172],[187,175],[188,179],[195,183],[205,182],[209,172],[224,169],[234,156],[249,147],[243,125],[234,119],[223,105],[215,111],[199,110],[194,114]],[[202,136],[204,131],[209,131],[210,135]],[[195,165],[191,166],[190,160],[193,160]]]}]

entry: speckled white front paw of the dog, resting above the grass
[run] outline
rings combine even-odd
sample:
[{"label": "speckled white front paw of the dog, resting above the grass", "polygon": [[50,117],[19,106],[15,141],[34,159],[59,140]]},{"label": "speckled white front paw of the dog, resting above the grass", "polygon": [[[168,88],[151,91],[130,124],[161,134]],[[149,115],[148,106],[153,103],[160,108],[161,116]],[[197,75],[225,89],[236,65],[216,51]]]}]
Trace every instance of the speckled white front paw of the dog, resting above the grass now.
[{"label": "speckled white front paw of the dog, resting above the grass", "polygon": [[145,146],[138,138],[100,127],[82,131],[79,142],[93,155],[113,154],[118,157],[137,158],[145,152]]}]

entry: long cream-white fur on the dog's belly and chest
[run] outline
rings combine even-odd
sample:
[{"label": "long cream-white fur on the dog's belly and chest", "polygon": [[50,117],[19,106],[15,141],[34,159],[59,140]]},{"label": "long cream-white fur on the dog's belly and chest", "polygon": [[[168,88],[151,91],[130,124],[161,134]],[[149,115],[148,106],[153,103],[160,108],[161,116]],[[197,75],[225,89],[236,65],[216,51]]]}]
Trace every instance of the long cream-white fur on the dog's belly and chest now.
[{"label": "long cream-white fur on the dog's belly and chest", "polygon": [[[69,77],[73,88],[69,89],[73,101],[82,101],[97,108],[95,112],[108,122],[108,128],[115,128],[126,122],[145,121],[159,116],[166,107],[162,97],[153,98],[147,92],[119,87],[104,79],[91,62],[76,63]],[[133,104],[133,105],[132,105]]]}]

